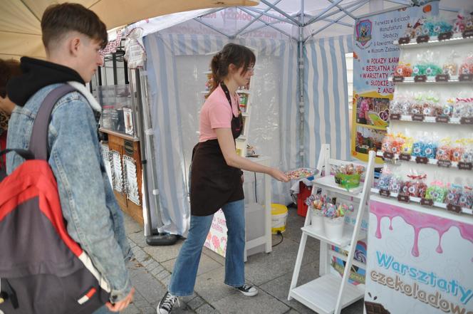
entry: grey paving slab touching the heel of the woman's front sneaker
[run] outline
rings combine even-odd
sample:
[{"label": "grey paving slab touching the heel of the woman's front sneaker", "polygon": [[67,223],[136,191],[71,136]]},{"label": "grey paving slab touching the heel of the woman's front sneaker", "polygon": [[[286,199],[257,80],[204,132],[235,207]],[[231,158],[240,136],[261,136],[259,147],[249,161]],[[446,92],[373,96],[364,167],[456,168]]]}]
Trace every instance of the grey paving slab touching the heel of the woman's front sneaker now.
[{"label": "grey paving slab touching the heel of the woman's front sneaker", "polygon": [[197,276],[194,291],[211,304],[229,295],[236,295],[237,293],[241,295],[238,291],[224,284],[224,274],[225,270],[222,267]]}]

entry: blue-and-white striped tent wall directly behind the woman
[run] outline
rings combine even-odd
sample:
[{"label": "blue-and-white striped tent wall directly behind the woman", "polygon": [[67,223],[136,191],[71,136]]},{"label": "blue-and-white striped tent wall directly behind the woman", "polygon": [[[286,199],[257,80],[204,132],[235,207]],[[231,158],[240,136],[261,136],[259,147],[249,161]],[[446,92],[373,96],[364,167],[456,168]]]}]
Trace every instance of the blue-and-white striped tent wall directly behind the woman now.
[{"label": "blue-and-white striped tent wall directly behind the woman", "polygon": [[[152,127],[155,131],[155,168],[157,169],[158,189],[160,190],[160,206],[162,221],[165,225],[160,231],[172,234],[185,234],[189,227],[189,201],[187,199],[186,173],[189,167],[189,151],[192,147],[185,144],[183,137],[194,130],[186,130],[183,134],[183,125],[189,125],[189,119],[198,116],[197,106],[202,105],[202,96],[199,105],[194,105],[194,112],[189,113],[192,104],[182,103],[182,93],[199,94],[203,89],[204,81],[199,90],[178,88],[177,62],[184,56],[204,56],[222,49],[228,39],[214,35],[189,35],[174,33],[153,33],[145,37],[147,52],[147,73],[150,93],[150,110]],[[241,38],[234,42],[255,48],[259,60],[266,57],[265,61],[276,63],[272,67],[277,69],[278,76],[274,86],[269,86],[264,77],[266,63],[256,62],[255,90],[251,94],[251,120],[256,115],[266,118],[265,115],[274,115],[276,134],[270,136],[260,134],[261,128],[254,129],[255,124],[250,123],[249,142],[256,147],[269,147],[268,150],[258,152],[262,155],[271,155],[274,167],[281,169],[294,169],[298,167],[298,108],[297,108],[297,45],[295,42],[266,39],[266,38]],[[210,57],[209,57],[210,58]],[[196,59],[197,60],[197,59]],[[207,65],[205,65],[207,67]],[[202,66],[201,66],[202,67]],[[194,66],[194,69],[197,66]],[[196,70],[187,70],[186,75],[199,75]],[[193,72],[194,70],[194,72]],[[261,75],[260,78],[257,75]],[[273,78],[274,79],[274,78]],[[278,94],[279,101],[274,107],[265,107],[271,103],[269,98]],[[275,108],[276,107],[276,108]],[[279,107],[279,108],[277,108]],[[269,112],[274,110],[275,112]],[[277,112],[276,112],[277,111]],[[184,131],[185,132],[185,131]],[[255,136],[253,137],[254,134]],[[270,142],[268,143],[268,138]],[[279,150],[274,150],[279,147]],[[272,200],[287,204],[290,202],[289,185],[273,180]]]}]

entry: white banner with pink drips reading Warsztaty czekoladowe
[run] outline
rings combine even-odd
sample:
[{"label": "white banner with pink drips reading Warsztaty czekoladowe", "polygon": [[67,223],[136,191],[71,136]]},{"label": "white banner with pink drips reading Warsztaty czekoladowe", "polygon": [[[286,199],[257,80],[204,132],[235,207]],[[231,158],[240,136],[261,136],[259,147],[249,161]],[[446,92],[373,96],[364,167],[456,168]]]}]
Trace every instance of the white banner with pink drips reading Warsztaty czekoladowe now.
[{"label": "white banner with pink drips reading Warsztaty czekoladowe", "polygon": [[473,221],[370,202],[366,313],[473,314]]}]

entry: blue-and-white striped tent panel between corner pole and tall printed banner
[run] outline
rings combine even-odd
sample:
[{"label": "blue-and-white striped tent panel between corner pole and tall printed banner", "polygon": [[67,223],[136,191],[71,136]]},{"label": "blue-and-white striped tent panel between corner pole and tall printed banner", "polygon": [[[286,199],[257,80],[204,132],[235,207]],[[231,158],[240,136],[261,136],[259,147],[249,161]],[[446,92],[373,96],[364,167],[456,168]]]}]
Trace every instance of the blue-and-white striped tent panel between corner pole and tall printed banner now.
[{"label": "blue-and-white striped tent panel between corner pole and tall printed banner", "polygon": [[345,53],[353,51],[353,35],[307,41],[304,50],[304,163],[316,167],[322,144],[331,157],[350,157],[348,86]]}]

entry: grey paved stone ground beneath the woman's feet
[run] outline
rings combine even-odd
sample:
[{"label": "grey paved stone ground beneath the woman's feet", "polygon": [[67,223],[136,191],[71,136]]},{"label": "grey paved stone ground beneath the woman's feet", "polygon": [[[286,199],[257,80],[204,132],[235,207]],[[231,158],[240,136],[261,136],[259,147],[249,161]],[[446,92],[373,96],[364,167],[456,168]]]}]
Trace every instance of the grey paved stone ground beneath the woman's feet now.
[{"label": "grey paved stone ground beneath the woman's feet", "polygon": [[[197,271],[194,295],[180,298],[174,314],[309,314],[313,310],[287,300],[289,286],[296,261],[301,226],[304,218],[289,209],[284,241],[273,252],[249,256],[245,264],[246,281],[259,289],[254,298],[247,298],[223,283],[224,258],[204,248]],[[154,314],[157,303],[166,292],[172,268],[182,246],[182,240],[173,246],[147,246],[142,226],[125,214],[128,239],[135,253],[135,261],[129,269],[135,286],[135,301],[122,314]],[[273,244],[279,242],[273,237]],[[303,258],[298,284],[318,277],[319,241],[309,238]],[[342,314],[363,313],[363,300],[342,310]]]}]

